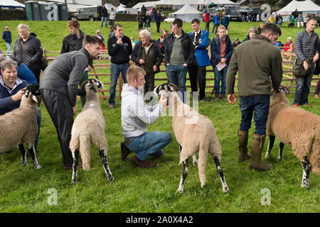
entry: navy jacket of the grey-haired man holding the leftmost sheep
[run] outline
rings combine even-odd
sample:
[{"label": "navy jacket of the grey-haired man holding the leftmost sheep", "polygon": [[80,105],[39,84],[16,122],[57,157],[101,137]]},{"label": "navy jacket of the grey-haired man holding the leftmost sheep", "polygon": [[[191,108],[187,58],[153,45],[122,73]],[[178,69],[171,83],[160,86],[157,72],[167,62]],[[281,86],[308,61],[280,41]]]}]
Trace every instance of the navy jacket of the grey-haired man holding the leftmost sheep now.
[{"label": "navy jacket of the grey-haired man holding the leftmost sheep", "polygon": [[11,98],[18,91],[28,86],[28,82],[21,79],[16,79],[17,86],[12,90],[11,94],[8,89],[4,87],[2,76],[0,77],[0,115],[4,115],[9,111],[17,109],[20,106],[21,101],[14,102]]}]

